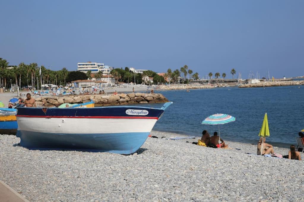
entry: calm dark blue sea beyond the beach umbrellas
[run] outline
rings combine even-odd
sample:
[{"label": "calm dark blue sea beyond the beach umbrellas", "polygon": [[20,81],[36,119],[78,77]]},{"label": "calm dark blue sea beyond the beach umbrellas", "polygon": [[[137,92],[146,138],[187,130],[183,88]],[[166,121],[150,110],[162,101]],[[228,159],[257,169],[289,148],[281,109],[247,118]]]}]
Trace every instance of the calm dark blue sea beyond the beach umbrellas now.
[{"label": "calm dark blue sea beyond the beach umbrellas", "polygon": [[256,144],[267,112],[270,129],[267,142],[289,147],[296,144],[295,137],[304,129],[304,86],[157,92],[173,104],[153,130],[197,136],[201,136],[202,130],[208,130],[213,134],[218,126],[202,125],[201,122],[211,114],[223,113],[236,117],[235,122],[220,126],[224,140]]}]

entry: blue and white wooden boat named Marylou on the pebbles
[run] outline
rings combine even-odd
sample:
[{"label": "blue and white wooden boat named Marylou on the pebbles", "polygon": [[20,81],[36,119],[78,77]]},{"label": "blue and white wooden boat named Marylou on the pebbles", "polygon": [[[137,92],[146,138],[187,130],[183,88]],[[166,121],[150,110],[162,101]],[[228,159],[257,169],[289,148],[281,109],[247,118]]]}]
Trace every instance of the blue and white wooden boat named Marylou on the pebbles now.
[{"label": "blue and white wooden boat named Marylou on the pebbles", "polygon": [[17,137],[31,149],[85,149],[132,154],[146,141],[161,108],[18,108]]}]

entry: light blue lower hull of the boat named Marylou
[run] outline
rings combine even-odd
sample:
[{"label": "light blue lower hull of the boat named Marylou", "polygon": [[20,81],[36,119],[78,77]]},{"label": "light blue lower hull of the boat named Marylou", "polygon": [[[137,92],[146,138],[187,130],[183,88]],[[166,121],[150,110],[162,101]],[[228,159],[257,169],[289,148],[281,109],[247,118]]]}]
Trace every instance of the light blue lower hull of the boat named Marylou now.
[{"label": "light blue lower hull of the boat named Marylou", "polygon": [[132,154],[146,141],[149,132],[55,134],[17,131],[20,145],[29,149],[84,149],[86,151]]}]

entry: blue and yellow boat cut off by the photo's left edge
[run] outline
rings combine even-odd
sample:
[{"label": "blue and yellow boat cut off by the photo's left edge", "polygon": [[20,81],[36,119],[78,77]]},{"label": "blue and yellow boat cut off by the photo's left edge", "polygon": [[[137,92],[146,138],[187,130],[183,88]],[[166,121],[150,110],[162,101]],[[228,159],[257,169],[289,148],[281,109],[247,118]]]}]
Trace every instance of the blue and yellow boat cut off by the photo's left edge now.
[{"label": "blue and yellow boat cut off by the photo's left edge", "polygon": [[17,132],[16,109],[0,108],[0,134],[15,135]]}]

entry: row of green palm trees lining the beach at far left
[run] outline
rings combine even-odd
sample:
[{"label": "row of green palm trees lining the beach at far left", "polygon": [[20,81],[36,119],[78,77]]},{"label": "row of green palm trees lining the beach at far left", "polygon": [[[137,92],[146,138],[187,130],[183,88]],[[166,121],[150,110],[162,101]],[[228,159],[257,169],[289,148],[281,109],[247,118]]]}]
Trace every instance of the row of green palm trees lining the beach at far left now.
[{"label": "row of green palm trees lining the beach at far left", "polygon": [[[18,66],[9,67],[9,62],[0,58],[0,86],[8,87],[9,80],[12,80],[17,86],[27,86],[28,82],[35,87],[36,84],[56,84],[57,81],[66,84],[66,78],[69,71],[66,68],[62,68],[59,71],[52,71],[45,68],[43,65],[38,66],[37,63],[25,64],[21,62]],[[40,67],[41,67],[41,80],[40,81]]]}]

